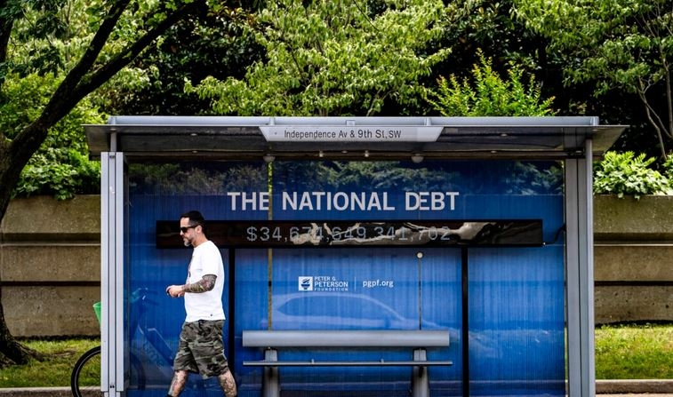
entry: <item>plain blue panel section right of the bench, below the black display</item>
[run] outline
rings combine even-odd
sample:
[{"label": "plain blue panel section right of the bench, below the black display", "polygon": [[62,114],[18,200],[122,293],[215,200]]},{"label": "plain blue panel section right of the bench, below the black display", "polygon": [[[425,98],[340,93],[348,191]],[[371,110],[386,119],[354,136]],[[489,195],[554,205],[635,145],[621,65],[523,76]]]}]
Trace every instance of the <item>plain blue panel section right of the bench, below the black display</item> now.
[{"label": "plain blue panel section right of the bench, below the black display", "polygon": [[565,395],[563,246],[469,252],[475,395]]}]

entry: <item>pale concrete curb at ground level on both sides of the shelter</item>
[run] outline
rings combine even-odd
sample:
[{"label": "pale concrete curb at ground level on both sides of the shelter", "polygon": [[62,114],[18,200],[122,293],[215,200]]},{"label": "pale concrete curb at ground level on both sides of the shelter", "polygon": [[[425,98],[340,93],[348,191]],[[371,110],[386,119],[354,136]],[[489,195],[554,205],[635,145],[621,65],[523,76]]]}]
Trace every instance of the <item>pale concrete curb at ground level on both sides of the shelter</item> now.
[{"label": "pale concrete curb at ground level on both sides of the shelter", "polygon": [[[596,381],[597,394],[654,394],[673,396],[673,379],[619,379]],[[0,397],[72,397],[69,387],[0,389]]]}]

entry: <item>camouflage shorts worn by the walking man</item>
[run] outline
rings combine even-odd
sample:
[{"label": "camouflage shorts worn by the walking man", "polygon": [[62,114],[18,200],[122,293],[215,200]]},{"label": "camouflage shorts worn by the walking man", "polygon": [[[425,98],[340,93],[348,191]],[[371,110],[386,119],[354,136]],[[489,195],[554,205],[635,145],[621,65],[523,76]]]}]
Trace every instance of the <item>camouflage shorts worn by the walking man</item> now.
[{"label": "camouflage shorts worn by the walking man", "polygon": [[185,322],[173,370],[188,370],[202,377],[217,377],[228,369],[222,342],[223,320]]}]

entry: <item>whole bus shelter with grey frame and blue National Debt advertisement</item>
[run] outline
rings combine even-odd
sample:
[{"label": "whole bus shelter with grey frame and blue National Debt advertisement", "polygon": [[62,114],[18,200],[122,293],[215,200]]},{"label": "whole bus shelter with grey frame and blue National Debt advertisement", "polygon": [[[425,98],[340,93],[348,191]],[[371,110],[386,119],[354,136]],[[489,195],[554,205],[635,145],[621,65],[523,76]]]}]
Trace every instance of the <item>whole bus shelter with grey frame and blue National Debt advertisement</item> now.
[{"label": "whole bus shelter with grey frame and blue National Debt advertisement", "polygon": [[[184,309],[164,290],[187,274],[180,214],[200,210],[225,261],[241,396],[593,396],[592,162],[625,128],[583,116],[86,125],[102,165],[103,393],[165,395]],[[432,338],[410,359],[387,335]],[[292,365],[267,365],[265,347]],[[183,395],[221,394],[194,377]]]}]

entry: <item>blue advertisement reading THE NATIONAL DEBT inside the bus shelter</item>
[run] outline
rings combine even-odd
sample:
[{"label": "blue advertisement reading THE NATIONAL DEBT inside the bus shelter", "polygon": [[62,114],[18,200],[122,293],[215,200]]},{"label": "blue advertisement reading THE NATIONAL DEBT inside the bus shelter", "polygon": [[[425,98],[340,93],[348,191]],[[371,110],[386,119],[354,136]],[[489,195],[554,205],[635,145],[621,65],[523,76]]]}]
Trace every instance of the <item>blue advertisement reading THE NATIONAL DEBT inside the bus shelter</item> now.
[{"label": "blue advertisement reading THE NATIONAL DEBT inside the bus shelter", "polygon": [[[204,214],[224,260],[225,353],[240,396],[268,384],[268,369],[244,365],[265,360],[244,341],[261,330],[315,338],[276,346],[277,361],[308,363],[274,367],[283,396],[410,395],[420,350],[438,363],[422,376],[433,396],[565,395],[557,163],[132,163],[128,185],[130,396],[164,396],[171,382],[185,309],[165,289],[187,277],[188,210]],[[447,340],[419,350],[325,339],[392,335],[378,331]],[[181,395],[221,391],[194,375]]]}]

